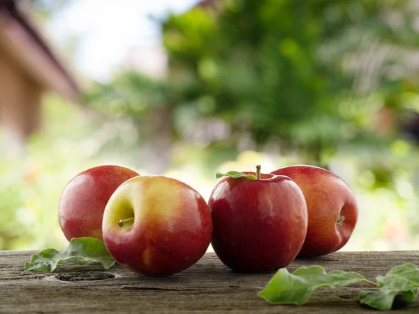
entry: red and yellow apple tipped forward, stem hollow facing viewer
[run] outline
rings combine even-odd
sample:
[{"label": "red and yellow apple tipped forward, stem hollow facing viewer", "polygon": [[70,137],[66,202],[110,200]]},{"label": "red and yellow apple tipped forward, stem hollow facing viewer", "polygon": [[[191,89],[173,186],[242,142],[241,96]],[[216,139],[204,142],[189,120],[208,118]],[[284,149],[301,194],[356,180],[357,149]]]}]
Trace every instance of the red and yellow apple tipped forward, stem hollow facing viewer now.
[{"label": "red and yellow apple tipped forward, stem hollow facing viewer", "polygon": [[212,238],[207,203],[192,187],[164,176],[138,176],[112,195],[103,215],[103,241],[122,266],[168,276],[203,257]]}]

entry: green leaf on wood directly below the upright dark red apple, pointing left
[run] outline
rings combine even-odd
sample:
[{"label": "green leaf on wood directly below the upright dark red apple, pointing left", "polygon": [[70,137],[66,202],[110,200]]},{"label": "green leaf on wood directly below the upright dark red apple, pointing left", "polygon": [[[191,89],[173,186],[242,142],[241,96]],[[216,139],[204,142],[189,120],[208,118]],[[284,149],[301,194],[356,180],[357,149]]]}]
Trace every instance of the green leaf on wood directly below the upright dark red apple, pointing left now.
[{"label": "green leaf on wood directly below the upright dark red apple, pointing left", "polygon": [[320,266],[301,267],[293,273],[279,269],[270,283],[258,295],[272,303],[304,304],[314,290],[321,287],[339,289],[353,283],[368,282],[358,273],[331,271]]}]

